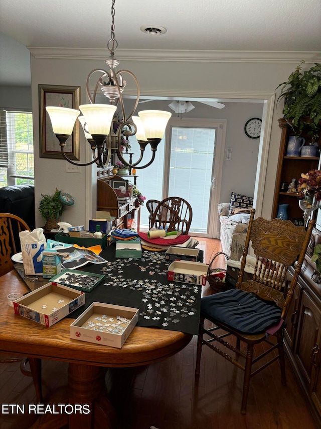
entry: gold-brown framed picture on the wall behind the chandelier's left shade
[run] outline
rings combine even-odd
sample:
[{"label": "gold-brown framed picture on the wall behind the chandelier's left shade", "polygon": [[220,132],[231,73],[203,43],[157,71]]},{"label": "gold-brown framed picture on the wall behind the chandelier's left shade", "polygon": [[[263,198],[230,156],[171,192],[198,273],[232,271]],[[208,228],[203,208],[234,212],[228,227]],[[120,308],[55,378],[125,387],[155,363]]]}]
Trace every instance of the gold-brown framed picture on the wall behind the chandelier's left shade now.
[{"label": "gold-brown framed picture on the wall behind the chandelier's left shade", "polygon": [[[39,131],[40,157],[64,159],[56,135],[51,126],[47,106],[60,106],[79,109],[80,87],[39,84]],[[66,141],[65,153],[73,160],[79,161],[79,130],[80,122],[76,120],[74,131]]]}]

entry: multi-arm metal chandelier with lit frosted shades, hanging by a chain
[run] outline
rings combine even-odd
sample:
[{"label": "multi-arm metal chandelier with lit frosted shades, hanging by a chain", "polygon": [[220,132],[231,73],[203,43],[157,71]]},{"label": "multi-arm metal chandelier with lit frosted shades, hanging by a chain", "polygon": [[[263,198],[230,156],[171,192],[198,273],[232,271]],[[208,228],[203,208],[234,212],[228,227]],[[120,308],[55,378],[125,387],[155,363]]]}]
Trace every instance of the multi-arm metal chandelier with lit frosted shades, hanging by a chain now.
[{"label": "multi-arm metal chandelier with lit frosted shades, hanging by a chain", "polygon": [[[119,160],[130,168],[145,168],[150,165],[154,158],[159,142],[162,140],[167,123],[172,116],[170,112],[161,110],[145,110],[138,112],[138,116],[132,116],[136,110],[139,101],[139,84],[135,75],[129,70],[116,71],[119,61],[115,58],[117,49],[117,40],[115,39],[115,0],[112,0],[111,6],[111,33],[107,48],[110,52],[105,60],[109,71],[96,68],[92,70],[87,77],[86,93],[90,104],[79,106],[79,110],[63,107],[48,106],[46,110],[49,114],[53,131],[59,141],[63,157],[74,165],[91,165],[105,168],[109,165],[111,156],[117,153]],[[93,94],[90,93],[89,82],[94,73],[99,73]],[[131,113],[126,116],[122,92],[126,86],[124,74],[129,74],[136,85],[136,100]],[[97,91],[101,90],[104,96],[109,99],[110,104],[95,104]],[[117,105],[120,105],[122,119],[115,123],[114,117]],[[82,116],[80,115],[82,113]],[[93,159],[90,162],[74,162],[68,158],[65,153],[66,141],[71,135],[76,120],[80,121],[92,150]],[[118,128],[114,127],[114,124]],[[130,154],[129,161],[125,159],[121,152],[122,139],[128,139],[129,136],[136,135],[139,144],[139,158],[132,161]],[[145,148],[150,145],[151,158],[144,165],[140,165],[144,156]]]}]

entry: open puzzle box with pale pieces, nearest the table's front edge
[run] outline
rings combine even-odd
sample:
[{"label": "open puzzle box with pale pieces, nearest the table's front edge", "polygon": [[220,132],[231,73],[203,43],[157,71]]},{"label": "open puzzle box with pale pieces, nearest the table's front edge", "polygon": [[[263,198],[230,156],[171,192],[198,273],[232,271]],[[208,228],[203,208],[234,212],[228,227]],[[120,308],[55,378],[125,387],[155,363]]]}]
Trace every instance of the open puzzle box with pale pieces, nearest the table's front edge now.
[{"label": "open puzzle box with pale pieces, nearest the table's front edge", "polygon": [[[138,308],[93,302],[70,325],[70,338],[121,349],[138,321],[138,311]],[[127,320],[121,321],[122,318]]]}]

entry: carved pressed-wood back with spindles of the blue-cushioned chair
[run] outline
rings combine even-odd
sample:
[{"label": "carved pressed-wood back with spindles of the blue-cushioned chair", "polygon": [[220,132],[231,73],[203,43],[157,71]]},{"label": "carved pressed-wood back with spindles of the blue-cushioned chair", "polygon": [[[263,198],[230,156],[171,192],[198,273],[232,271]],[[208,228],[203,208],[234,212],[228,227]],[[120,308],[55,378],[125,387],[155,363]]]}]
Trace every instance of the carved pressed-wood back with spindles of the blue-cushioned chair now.
[{"label": "carved pressed-wood back with spindles of the blue-cushioned chair", "polygon": [[[282,308],[281,318],[284,319],[301,271],[310,235],[306,234],[304,226],[295,226],[289,220],[266,220],[262,217],[254,220],[254,213],[253,209],[236,288],[255,293],[262,299],[274,301]],[[312,231],[313,225],[314,221],[310,221],[309,231]],[[256,265],[253,278],[243,282],[250,242]],[[288,290],[284,291],[287,269],[295,262],[291,284]]]}]

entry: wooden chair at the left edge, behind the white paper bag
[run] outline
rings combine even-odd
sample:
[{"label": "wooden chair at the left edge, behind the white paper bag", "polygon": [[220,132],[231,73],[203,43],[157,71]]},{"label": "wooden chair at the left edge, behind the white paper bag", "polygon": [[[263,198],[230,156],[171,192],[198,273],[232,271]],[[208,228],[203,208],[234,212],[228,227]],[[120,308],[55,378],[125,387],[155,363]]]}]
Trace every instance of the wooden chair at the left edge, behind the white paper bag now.
[{"label": "wooden chair at the left edge, behind the white paper bag", "polygon": [[[30,231],[27,223],[11,213],[0,213],[0,276],[14,269],[11,256],[21,250],[19,232]],[[0,354],[0,363],[21,362],[20,369],[24,375],[33,378],[37,402],[43,402],[41,386],[41,359],[13,357]],[[28,368],[28,364],[30,369]]]}]

